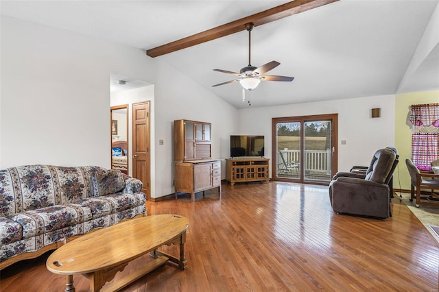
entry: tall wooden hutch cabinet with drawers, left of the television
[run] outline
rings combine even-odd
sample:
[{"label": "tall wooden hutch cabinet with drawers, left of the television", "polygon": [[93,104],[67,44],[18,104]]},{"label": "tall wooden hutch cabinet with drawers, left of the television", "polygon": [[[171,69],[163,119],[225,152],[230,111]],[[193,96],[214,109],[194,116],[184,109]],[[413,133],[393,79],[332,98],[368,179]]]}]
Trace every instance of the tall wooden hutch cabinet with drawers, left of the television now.
[{"label": "tall wooden hutch cabinet with drawers, left of the television", "polygon": [[212,159],[211,123],[174,121],[175,195],[219,188],[221,197],[221,160]]}]

